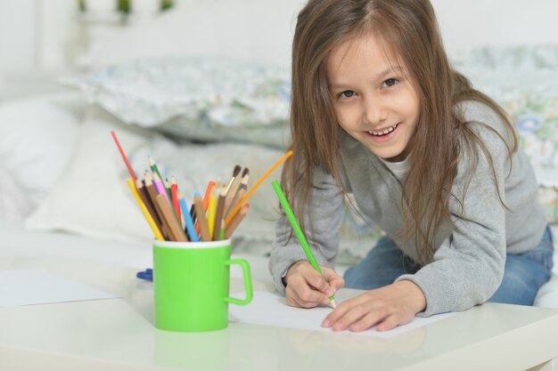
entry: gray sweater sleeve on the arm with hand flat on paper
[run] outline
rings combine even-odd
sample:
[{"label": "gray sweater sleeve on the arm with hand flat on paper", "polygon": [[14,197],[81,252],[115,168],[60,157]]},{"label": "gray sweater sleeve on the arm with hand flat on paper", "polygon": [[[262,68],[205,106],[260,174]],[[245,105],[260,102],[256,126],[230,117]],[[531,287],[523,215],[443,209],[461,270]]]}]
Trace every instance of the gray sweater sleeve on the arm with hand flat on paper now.
[{"label": "gray sweater sleeve on the arm with hand flat on paper", "polygon": [[[419,316],[464,311],[486,302],[504,276],[505,206],[497,190],[505,202],[505,177],[510,172],[510,161],[502,138],[487,128],[480,128],[478,134],[489,155],[478,149],[479,161],[472,168],[468,165],[470,157],[462,152],[452,189],[455,197],[449,202],[451,234],[439,246],[431,263],[413,275],[398,278],[411,280],[423,290],[427,307]],[[463,207],[456,199],[463,200]]]}]

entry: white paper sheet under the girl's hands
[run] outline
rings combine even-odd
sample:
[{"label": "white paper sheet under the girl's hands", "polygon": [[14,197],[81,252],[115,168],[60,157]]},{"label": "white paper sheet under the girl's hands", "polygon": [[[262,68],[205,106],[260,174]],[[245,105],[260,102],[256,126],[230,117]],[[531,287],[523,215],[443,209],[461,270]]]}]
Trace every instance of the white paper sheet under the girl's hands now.
[{"label": "white paper sheet under the girl's hands", "polygon": [[[234,296],[239,298],[244,297],[243,293]],[[336,297],[336,302],[340,304],[342,300]],[[240,323],[331,332],[331,328],[321,327],[322,321],[330,311],[332,311],[332,309],[328,307],[316,307],[312,309],[293,308],[285,303],[285,299],[281,295],[255,291],[254,299],[250,304],[245,306],[229,305],[229,320]],[[455,313],[444,313],[429,318],[415,317],[411,323],[396,327],[390,331],[379,332],[371,328],[360,333],[351,333],[349,331],[343,333],[375,337],[392,337],[414,328],[436,322],[440,319],[446,319],[454,314]]]}]

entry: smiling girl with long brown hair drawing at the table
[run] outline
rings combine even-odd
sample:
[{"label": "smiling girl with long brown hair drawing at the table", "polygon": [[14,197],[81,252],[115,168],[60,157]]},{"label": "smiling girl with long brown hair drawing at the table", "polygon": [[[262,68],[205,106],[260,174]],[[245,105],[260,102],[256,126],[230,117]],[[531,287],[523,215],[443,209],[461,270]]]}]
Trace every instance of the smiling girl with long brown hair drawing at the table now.
[{"label": "smiling girl with long brown hair drawing at the table", "polygon": [[[291,98],[283,190],[324,278],[283,215],[269,267],[289,305],[365,289],[322,326],[382,331],[487,301],[532,304],[553,254],[534,173],[510,118],[451,68],[428,0],[310,0]],[[332,262],[347,193],[386,236],[343,279]]]}]

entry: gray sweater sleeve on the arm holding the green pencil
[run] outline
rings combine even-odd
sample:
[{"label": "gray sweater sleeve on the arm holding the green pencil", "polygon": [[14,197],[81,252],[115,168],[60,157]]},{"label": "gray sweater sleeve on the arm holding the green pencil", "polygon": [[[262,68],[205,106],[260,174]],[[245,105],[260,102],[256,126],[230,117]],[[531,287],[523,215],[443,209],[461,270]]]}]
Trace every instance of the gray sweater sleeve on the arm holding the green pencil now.
[{"label": "gray sweater sleeve on the arm holding the green pencil", "polygon": [[[317,168],[313,183],[314,188],[304,215],[304,234],[318,264],[332,267],[339,248],[339,230],[344,218],[343,193],[332,175]],[[296,216],[300,221],[300,215]],[[312,230],[309,229],[310,225]],[[284,274],[293,263],[300,260],[308,259],[299,239],[292,232],[289,220],[282,214],[275,224],[275,240],[269,258],[269,270],[281,294],[285,291],[282,279]]]}]

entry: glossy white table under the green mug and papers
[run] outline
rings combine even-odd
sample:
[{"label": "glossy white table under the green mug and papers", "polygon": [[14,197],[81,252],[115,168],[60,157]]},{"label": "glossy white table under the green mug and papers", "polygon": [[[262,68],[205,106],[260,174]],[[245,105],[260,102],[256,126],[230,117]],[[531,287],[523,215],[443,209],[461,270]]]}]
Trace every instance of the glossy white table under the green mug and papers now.
[{"label": "glossy white table under the green mug and papers", "polygon": [[[152,326],[152,286],[132,268],[0,260],[0,269],[23,268],[124,298],[0,308],[2,370],[558,369],[558,310],[488,303],[388,339],[238,323],[179,334]],[[233,278],[233,291],[240,284]],[[273,290],[260,281],[254,288]]]}]

